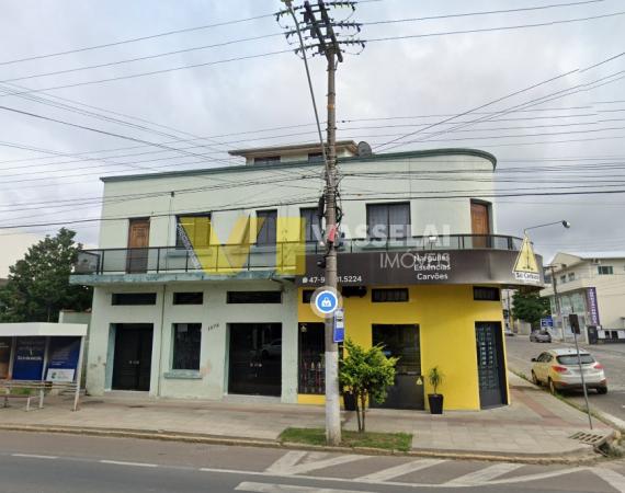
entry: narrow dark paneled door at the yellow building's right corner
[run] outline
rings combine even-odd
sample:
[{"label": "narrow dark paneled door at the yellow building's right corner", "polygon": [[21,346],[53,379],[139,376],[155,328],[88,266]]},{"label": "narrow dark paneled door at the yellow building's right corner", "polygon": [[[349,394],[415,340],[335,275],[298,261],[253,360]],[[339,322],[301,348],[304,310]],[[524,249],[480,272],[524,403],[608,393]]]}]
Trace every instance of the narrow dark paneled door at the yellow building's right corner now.
[{"label": "narrow dark paneled door at the yellow building's right corner", "polygon": [[505,363],[501,323],[477,322],[475,334],[480,408],[505,404]]}]

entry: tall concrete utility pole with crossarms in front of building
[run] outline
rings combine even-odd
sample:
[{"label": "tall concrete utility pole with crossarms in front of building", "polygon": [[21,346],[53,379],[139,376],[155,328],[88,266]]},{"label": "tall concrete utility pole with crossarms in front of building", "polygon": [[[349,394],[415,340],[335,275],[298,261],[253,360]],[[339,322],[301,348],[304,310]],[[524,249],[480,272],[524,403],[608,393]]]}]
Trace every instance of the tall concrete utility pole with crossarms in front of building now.
[{"label": "tall concrete utility pole with crossarms in front of building", "polygon": [[[362,42],[350,39],[339,41],[334,26],[340,28],[355,28],[360,32],[360,24],[353,22],[337,22],[330,16],[328,8],[323,0],[318,0],[317,5],[312,7],[309,1],[305,1],[303,7],[294,8],[292,0],[284,0],[287,11],[280,12],[277,19],[284,13],[289,13],[295,22],[295,31],[287,32],[289,35],[297,34],[299,38],[299,48],[295,51],[302,51],[306,72],[308,76],[308,84],[317,117],[317,126],[319,130],[319,139],[321,151],[326,164],[326,187],[323,192],[325,197],[325,218],[326,218],[326,233],[325,244],[326,253],[323,256],[325,264],[325,285],[326,288],[338,291],[338,265],[337,265],[337,243],[340,238],[339,221],[338,221],[338,175],[337,175],[337,91],[336,91],[336,73],[338,62],[343,61],[343,54],[341,51],[341,44],[361,45]],[[328,5],[332,7],[348,7],[355,10],[355,2],[341,1],[329,2]],[[302,10],[304,15],[305,27],[299,28],[295,11]],[[317,16],[319,15],[319,18]],[[302,31],[309,32],[309,38],[312,44],[306,45]],[[317,107],[315,103],[315,95],[310,82],[310,74],[308,70],[308,61],[306,58],[306,50],[315,49],[318,55],[325,56],[328,64],[328,127],[327,127],[327,141],[322,141],[321,129],[317,116]],[[329,445],[340,445],[341,443],[341,406],[339,393],[339,345],[334,342],[334,319],[333,317],[326,318],[325,324],[325,362],[326,362],[326,442]]]}]

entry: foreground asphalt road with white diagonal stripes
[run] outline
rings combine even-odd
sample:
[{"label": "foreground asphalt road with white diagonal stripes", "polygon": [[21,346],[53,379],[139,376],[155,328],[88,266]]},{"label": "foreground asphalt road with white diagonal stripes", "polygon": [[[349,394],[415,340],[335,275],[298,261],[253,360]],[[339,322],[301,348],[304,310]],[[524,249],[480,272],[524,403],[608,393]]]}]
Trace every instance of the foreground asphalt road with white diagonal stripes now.
[{"label": "foreground asphalt road with white diagonal stripes", "polygon": [[0,491],[625,493],[625,461],[533,466],[0,432]]}]

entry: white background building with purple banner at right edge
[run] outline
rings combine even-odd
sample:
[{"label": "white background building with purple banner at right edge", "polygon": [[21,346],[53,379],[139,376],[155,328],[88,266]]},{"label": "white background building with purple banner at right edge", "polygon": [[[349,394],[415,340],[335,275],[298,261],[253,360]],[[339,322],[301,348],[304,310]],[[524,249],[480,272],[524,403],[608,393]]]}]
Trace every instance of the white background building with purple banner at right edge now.
[{"label": "white background building with purple banner at right edge", "polygon": [[[625,340],[625,252],[558,252],[547,271],[549,285],[541,291],[558,312],[554,285],[562,320],[556,320],[557,332],[572,337],[569,313],[577,313],[580,329],[601,326],[607,339]],[[553,278],[552,278],[553,277]],[[557,317],[556,317],[557,319]]]}]

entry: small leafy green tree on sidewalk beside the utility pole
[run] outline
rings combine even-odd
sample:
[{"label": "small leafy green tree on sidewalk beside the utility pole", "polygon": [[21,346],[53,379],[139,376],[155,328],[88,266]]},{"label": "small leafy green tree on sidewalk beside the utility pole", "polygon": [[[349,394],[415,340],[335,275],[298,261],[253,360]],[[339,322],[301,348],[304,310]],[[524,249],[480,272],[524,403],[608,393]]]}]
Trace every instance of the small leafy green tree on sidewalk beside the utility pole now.
[{"label": "small leafy green tree on sidewalk beside the utility pole", "polygon": [[398,358],[387,358],[382,346],[365,349],[345,341],[348,356],[341,359],[339,379],[344,389],[354,394],[359,432],[365,431],[366,403],[386,400],[388,387],[395,381],[395,365]]}]

